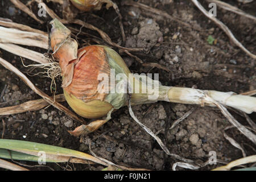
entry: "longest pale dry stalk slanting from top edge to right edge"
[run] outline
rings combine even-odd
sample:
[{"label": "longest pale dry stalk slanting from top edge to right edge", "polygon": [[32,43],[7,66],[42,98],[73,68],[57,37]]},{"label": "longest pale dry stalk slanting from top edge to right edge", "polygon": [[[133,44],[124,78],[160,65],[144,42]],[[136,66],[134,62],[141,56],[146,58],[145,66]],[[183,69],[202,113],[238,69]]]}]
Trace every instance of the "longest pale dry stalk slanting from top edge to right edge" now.
[{"label": "longest pale dry stalk slanting from top edge to right edge", "polygon": [[254,55],[253,53],[251,53],[250,51],[248,51],[245,47],[243,47],[243,45],[234,37],[234,35],[232,34],[232,32],[229,30],[229,28],[222,23],[220,20],[218,20],[217,18],[215,18],[214,16],[211,16],[207,10],[204,9],[204,7],[197,1],[197,0],[191,0],[196,6],[197,8],[205,15],[207,16],[210,20],[212,20],[214,23],[217,24],[218,27],[220,27],[225,33],[226,35],[228,35],[229,39],[232,40],[232,42],[234,44],[236,44],[236,46],[240,47],[242,49],[242,51],[244,51],[245,53],[247,53],[247,55],[249,55],[250,57],[252,57],[253,59],[256,59],[256,55]]}]

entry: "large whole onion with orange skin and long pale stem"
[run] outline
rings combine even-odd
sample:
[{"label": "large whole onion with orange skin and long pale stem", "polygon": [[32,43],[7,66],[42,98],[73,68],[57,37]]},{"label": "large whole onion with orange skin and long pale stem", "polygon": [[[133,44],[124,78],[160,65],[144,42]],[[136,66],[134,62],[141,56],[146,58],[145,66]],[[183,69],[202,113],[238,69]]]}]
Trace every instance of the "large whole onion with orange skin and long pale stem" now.
[{"label": "large whole onion with orange skin and long pale stem", "polygon": [[[68,28],[57,19],[52,20],[51,24],[51,47],[53,56],[59,60],[62,87],[68,104],[85,118],[108,115],[106,119],[97,120],[97,124],[78,127],[72,134],[87,134],[97,130],[110,119],[113,110],[129,104],[167,101],[218,106],[222,111],[225,110],[222,105],[245,113],[256,111],[255,97],[233,92],[163,86],[146,75],[131,74],[122,57],[113,49],[100,45],[78,49]],[[115,76],[118,75],[121,77],[117,79]]]}]

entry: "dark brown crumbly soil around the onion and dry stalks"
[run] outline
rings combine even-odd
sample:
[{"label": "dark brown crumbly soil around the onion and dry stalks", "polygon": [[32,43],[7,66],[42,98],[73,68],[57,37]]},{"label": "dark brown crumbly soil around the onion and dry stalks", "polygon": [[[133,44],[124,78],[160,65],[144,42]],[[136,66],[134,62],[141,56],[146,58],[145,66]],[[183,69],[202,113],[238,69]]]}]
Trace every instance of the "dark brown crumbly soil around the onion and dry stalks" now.
[{"label": "dark brown crumbly soil around the onion and dry stalks", "polygon": [[[27,3],[28,1],[22,2]],[[236,93],[256,89],[255,60],[246,55],[240,48],[234,46],[229,41],[228,36],[205,17],[191,1],[138,1],[166,11],[189,26],[184,26],[184,24],[175,20],[152,14],[137,7],[123,5],[123,1],[114,2],[117,3],[123,16],[126,42],[122,41],[118,16],[113,8],[106,10],[103,6],[100,11],[79,13],[77,18],[100,28],[110,36],[113,42],[121,46],[143,47],[144,51],[131,53],[138,56],[144,63],[158,63],[164,68],[170,69],[170,72],[167,72],[160,68],[144,67],[134,57],[120,52],[131,72],[159,73],[159,81],[163,85],[169,86],[185,86]],[[238,3],[237,1],[225,2],[256,16],[256,1],[248,4]],[[208,9],[206,2],[201,1],[201,3],[205,9]],[[48,2],[47,5],[59,16],[62,16],[60,5],[53,2]],[[39,24],[9,1],[1,1],[0,8],[0,17],[9,18],[13,22],[26,24],[47,32],[47,22],[51,20],[49,16],[40,18],[44,24]],[[37,14],[38,5],[32,3],[31,10]],[[217,18],[230,28],[243,46],[254,54],[256,53],[256,28],[253,20],[220,8],[217,8]],[[68,26],[80,30],[80,27],[74,24]],[[86,28],[81,30],[79,35],[77,35],[78,32],[73,32],[74,35],[77,35],[80,47],[86,44],[106,44],[97,32]],[[82,34],[83,32],[87,34]],[[215,39],[213,44],[209,44],[208,38],[210,35]],[[94,38],[95,36],[97,39]],[[119,51],[117,48],[113,48]],[[33,49],[42,53],[46,52],[44,49]],[[0,49],[0,56],[24,73],[30,73],[31,75],[40,71],[40,69],[36,69],[31,72],[31,69],[23,67],[18,56],[2,49]],[[24,59],[24,64],[32,63],[32,61]],[[39,89],[48,95],[52,95],[50,92],[51,79],[27,76]],[[56,94],[63,93],[60,85],[60,80],[57,80]],[[2,66],[0,66],[0,93],[2,93],[0,107],[18,105],[40,98],[14,73],[7,71]],[[63,105],[71,109],[67,102],[63,102]],[[156,133],[159,130],[168,129],[176,119],[193,108],[195,108],[193,113],[174,129],[166,130],[166,132],[162,131],[158,134],[171,153],[199,163],[208,161],[210,151],[215,151],[217,159],[224,162],[242,158],[242,152],[225,139],[224,129],[226,126],[230,126],[230,123],[216,108],[157,102],[155,104],[133,106],[133,111],[139,121]],[[232,110],[230,112],[243,125],[249,126],[245,118]],[[250,114],[249,117],[254,122],[256,121],[255,113]],[[80,123],[68,118],[52,106],[38,111],[6,115],[1,118],[6,123],[3,135],[5,139],[51,144],[88,154],[90,154],[89,143],[92,142],[92,150],[96,155],[116,164],[134,168],[171,170],[172,165],[179,162],[164,153],[159,144],[130,117],[127,107],[115,111],[112,114],[112,119],[95,133],[81,137],[73,137],[67,131],[75,129]],[[92,119],[85,120],[86,122],[93,121]],[[3,124],[0,122],[0,135],[2,135],[2,131]],[[241,144],[246,155],[256,154],[255,145],[240,131],[233,128],[227,130],[226,133]],[[36,165],[32,162],[22,163]],[[66,165],[66,163],[59,165],[55,163],[47,164],[55,170],[63,170]],[[222,165],[217,163],[200,169],[209,170]],[[91,166],[69,164],[69,166],[72,170],[100,170],[104,168],[98,164]],[[30,169],[48,170],[49,168],[33,167]],[[177,169],[184,170],[180,167],[177,167]]]}]

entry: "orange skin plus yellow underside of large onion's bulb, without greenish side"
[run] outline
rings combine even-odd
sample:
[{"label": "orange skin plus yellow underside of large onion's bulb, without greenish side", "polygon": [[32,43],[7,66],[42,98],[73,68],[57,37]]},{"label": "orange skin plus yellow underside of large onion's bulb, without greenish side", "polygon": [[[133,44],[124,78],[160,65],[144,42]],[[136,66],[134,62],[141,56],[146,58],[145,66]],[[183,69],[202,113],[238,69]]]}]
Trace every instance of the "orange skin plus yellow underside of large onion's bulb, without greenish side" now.
[{"label": "orange skin plus yellow underside of large onion's bulb, without greenish side", "polygon": [[79,49],[85,51],[74,67],[71,84],[64,87],[64,96],[69,106],[85,118],[100,118],[113,108],[105,102],[106,93],[98,93],[98,74],[110,75],[110,67],[106,61],[104,48],[88,46]]}]

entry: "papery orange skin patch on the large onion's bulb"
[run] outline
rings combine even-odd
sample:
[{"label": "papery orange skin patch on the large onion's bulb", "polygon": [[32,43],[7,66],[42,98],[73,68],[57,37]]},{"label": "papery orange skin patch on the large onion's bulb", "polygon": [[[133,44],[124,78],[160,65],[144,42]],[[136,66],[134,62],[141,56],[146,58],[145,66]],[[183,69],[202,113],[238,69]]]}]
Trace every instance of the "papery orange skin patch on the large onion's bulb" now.
[{"label": "papery orange skin patch on the large onion's bulb", "polygon": [[98,75],[101,73],[110,75],[110,67],[105,50],[99,46],[87,46],[80,48],[78,55],[80,52],[85,53],[79,60],[74,60],[77,63],[73,71],[73,80],[71,84],[63,89],[84,102],[92,100],[104,101],[106,93],[98,92],[98,83],[100,82]]}]

